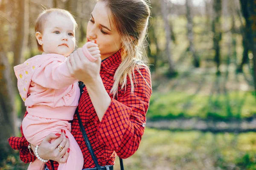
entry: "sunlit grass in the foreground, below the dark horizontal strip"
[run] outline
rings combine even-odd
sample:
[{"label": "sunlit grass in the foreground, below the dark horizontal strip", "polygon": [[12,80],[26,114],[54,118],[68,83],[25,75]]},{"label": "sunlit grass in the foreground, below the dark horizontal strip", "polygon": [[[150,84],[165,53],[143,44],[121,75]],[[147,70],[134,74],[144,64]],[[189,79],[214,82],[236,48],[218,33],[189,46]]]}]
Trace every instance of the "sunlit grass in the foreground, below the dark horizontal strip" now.
[{"label": "sunlit grass in the foreground, below the dark horizontal strip", "polygon": [[[256,133],[171,132],[147,128],[128,170],[256,170]],[[119,170],[116,160],[115,170]]]}]

